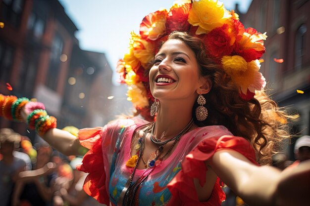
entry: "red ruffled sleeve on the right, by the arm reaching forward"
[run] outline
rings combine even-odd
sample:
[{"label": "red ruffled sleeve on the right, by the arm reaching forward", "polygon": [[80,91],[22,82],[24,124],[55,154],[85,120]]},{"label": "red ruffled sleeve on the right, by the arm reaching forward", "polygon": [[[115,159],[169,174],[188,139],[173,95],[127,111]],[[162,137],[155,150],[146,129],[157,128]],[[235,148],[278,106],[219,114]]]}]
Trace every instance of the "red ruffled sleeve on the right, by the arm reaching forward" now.
[{"label": "red ruffled sleeve on the right, by the arm reaching forward", "polygon": [[255,151],[245,138],[228,135],[207,138],[185,157],[182,169],[167,185],[172,194],[169,206],[220,206],[221,202],[225,200],[225,194],[220,187],[218,178],[207,202],[199,202],[193,182],[193,178],[197,178],[201,185],[206,183],[207,166],[205,161],[209,160],[219,149],[235,150],[258,165],[255,161]]}]

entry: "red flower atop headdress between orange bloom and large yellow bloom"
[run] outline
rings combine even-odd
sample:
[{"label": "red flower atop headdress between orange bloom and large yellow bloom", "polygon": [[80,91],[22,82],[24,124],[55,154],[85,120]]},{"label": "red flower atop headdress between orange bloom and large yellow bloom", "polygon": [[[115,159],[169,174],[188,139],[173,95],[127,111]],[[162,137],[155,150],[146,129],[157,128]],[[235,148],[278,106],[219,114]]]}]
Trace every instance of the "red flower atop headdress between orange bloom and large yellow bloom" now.
[{"label": "red flower atop headdress between orange bloom and large yellow bloom", "polygon": [[188,31],[190,23],[187,21],[188,12],[191,8],[190,3],[185,3],[181,6],[174,4],[168,13],[166,21],[167,34],[173,31]]}]

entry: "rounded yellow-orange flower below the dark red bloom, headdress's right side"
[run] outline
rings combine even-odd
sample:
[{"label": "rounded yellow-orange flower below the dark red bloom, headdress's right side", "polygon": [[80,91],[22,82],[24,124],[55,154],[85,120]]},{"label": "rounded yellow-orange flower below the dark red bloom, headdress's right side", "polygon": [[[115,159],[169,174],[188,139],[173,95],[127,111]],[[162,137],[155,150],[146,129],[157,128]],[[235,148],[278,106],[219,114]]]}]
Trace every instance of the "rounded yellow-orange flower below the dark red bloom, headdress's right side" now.
[{"label": "rounded yellow-orange flower below the dark red bloom, headdress's right side", "polygon": [[242,56],[223,56],[221,62],[223,70],[228,75],[234,75],[236,72],[247,70],[247,62]]}]

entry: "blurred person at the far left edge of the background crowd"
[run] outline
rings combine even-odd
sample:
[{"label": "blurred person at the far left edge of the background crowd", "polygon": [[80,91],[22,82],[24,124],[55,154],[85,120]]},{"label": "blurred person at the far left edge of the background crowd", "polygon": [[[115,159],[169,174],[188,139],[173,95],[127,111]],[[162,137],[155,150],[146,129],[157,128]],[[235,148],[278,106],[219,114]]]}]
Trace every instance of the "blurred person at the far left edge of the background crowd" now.
[{"label": "blurred person at the far left edge of the background crowd", "polygon": [[10,128],[0,129],[0,206],[11,205],[14,184],[21,171],[31,169],[28,155],[15,151],[21,135]]}]

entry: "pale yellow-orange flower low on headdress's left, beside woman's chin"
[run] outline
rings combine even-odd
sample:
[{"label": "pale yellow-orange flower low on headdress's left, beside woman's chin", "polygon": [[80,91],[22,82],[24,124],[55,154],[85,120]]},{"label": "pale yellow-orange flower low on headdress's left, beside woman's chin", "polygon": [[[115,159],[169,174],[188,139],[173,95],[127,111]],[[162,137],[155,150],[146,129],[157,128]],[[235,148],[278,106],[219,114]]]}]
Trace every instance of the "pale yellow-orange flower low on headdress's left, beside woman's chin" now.
[{"label": "pale yellow-orange flower low on headdress's left, beside woman's chin", "polygon": [[127,100],[131,101],[134,107],[144,108],[149,106],[147,91],[142,82],[129,86],[127,96]]}]

